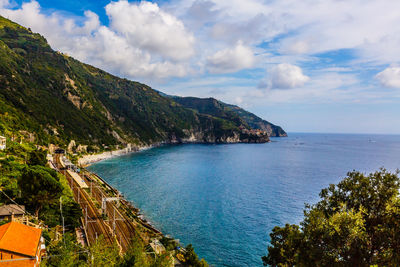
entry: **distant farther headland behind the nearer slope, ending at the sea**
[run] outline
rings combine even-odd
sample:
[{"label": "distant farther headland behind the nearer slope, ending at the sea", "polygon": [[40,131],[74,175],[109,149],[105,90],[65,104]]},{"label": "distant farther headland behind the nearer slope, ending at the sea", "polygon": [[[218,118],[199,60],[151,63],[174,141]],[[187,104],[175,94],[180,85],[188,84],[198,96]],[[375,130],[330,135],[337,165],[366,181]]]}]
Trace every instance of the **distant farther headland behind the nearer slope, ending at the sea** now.
[{"label": "distant farther headland behind the nearer slope, ending at the sea", "polygon": [[240,119],[243,124],[247,124],[252,129],[266,131],[269,137],[287,136],[286,132],[280,126],[263,120],[238,106],[226,104],[214,98],[177,96],[173,96],[172,98],[182,106],[197,110],[202,114],[221,118],[235,118],[236,120]]}]

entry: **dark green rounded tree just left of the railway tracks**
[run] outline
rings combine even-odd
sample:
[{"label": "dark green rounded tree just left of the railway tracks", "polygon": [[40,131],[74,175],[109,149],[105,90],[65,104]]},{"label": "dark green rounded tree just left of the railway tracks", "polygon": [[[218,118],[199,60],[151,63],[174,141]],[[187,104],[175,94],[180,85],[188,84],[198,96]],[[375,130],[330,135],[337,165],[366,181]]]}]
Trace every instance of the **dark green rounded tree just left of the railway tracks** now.
[{"label": "dark green rounded tree just left of the railway tracks", "polygon": [[36,217],[39,216],[43,205],[58,201],[63,190],[57,172],[43,166],[26,167],[18,185],[22,191],[22,198],[33,208]]}]

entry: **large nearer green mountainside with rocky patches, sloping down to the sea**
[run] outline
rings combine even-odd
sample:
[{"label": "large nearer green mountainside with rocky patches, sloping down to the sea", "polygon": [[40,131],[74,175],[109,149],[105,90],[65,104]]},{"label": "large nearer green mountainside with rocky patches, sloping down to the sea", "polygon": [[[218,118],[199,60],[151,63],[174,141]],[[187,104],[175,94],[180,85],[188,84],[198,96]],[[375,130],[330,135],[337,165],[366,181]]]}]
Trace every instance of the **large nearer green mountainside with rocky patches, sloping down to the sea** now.
[{"label": "large nearer green mountainside with rocky patches, sloping down to the sea", "polygon": [[240,113],[205,109],[187,108],[145,84],[55,52],[40,34],[0,17],[0,134],[44,145],[75,140],[100,149],[269,141],[267,134],[251,131],[262,128]]}]

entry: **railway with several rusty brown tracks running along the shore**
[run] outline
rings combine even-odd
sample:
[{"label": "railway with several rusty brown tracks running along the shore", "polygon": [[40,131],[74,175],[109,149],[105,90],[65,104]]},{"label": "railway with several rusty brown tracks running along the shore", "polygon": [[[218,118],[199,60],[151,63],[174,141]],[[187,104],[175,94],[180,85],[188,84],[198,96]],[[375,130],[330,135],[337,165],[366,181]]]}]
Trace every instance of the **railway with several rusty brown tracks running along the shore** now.
[{"label": "railway with several rusty brown tracks running along the shore", "polygon": [[[145,243],[150,241],[148,235],[137,230],[138,227],[145,227],[156,235],[160,233],[151,226],[140,221],[136,222],[121,212],[120,205],[126,210],[130,207],[124,201],[115,203],[115,196],[118,196],[119,192],[103,182],[101,178],[86,172],[80,176],[75,174],[73,177],[74,173],[71,174],[70,171],[65,170],[60,155],[57,155],[55,159],[57,169],[67,178],[74,199],[81,206],[82,225],[89,245],[103,236],[110,244],[117,241],[121,252],[124,253],[131,246],[133,238],[140,238]],[[104,188],[100,184],[104,184]]]}]

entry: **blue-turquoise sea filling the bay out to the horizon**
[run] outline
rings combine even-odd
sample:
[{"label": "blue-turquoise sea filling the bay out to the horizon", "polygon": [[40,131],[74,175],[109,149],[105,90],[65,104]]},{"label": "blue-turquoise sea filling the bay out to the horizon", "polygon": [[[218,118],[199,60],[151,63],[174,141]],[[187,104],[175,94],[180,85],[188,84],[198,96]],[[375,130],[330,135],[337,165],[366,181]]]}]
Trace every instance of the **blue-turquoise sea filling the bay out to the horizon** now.
[{"label": "blue-turquoise sea filling the bay out to the horizon", "polygon": [[89,169],[213,266],[262,266],[275,225],[348,171],[400,168],[400,136],[290,134],[267,144],[178,145]]}]

